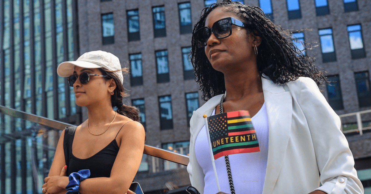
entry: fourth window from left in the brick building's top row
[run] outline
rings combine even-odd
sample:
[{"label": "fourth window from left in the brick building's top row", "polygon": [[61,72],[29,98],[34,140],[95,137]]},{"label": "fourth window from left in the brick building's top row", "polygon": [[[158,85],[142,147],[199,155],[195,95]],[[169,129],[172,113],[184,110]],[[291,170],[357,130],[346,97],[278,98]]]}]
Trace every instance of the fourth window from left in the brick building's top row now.
[{"label": "fourth window from left in the brick building's top row", "polygon": [[191,3],[179,3],[180,34],[192,33]]}]

